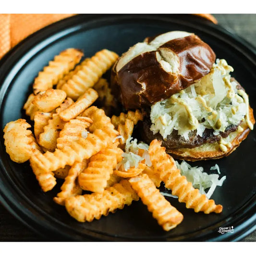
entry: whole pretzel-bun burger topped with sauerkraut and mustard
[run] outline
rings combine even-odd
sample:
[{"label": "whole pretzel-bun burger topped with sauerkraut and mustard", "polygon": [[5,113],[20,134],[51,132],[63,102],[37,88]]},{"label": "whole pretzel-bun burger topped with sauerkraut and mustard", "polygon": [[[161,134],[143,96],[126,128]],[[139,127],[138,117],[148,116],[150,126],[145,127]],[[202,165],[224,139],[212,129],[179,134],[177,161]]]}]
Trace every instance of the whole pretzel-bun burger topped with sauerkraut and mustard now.
[{"label": "whole pretzel-bun burger topped with sauerkraut and mustard", "polygon": [[233,68],[193,33],[147,37],[122,54],[111,89],[126,110],[143,109],[142,140],[162,141],[175,158],[190,161],[231,154],[255,124]]}]

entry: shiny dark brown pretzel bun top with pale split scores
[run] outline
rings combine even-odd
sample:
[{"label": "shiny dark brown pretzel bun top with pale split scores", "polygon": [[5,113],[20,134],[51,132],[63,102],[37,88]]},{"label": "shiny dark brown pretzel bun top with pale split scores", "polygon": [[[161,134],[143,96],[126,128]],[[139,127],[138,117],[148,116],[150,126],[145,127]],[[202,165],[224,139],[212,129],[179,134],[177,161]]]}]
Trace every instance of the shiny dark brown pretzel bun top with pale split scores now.
[{"label": "shiny dark brown pretzel bun top with pale split scores", "polygon": [[113,66],[112,92],[125,109],[151,106],[207,75],[215,58],[213,50],[192,33],[147,37]]}]

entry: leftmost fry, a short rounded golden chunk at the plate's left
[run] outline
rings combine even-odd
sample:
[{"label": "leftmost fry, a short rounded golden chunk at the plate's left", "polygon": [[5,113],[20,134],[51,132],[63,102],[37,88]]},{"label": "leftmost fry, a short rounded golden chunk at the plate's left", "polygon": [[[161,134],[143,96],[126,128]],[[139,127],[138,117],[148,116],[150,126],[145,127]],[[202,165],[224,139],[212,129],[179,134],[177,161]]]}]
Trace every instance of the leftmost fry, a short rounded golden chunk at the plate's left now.
[{"label": "leftmost fry, a short rounded golden chunk at the plate's left", "polygon": [[32,150],[39,149],[30,130],[31,125],[24,119],[8,122],[3,129],[4,145],[12,161],[24,163],[31,157]]}]

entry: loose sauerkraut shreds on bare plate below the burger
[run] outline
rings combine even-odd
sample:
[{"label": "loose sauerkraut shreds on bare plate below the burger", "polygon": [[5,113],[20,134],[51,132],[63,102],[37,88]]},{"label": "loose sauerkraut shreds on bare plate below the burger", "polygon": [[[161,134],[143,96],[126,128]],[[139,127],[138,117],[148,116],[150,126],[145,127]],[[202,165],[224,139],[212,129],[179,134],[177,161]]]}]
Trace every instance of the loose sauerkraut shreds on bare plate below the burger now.
[{"label": "loose sauerkraut shreds on bare plate below the burger", "polygon": [[[192,167],[187,162],[182,161],[179,164],[177,161],[177,168],[181,170],[181,174],[186,176],[188,182],[191,182],[194,188],[198,188],[201,194],[205,194],[207,198],[210,198],[216,188],[216,186],[222,186],[222,183],[226,180],[226,176],[223,176],[219,180],[219,166],[216,164],[212,166],[210,170],[217,170],[219,174],[207,174],[204,172],[203,167]],[[206,189],[209,188],[206,193]]]}]

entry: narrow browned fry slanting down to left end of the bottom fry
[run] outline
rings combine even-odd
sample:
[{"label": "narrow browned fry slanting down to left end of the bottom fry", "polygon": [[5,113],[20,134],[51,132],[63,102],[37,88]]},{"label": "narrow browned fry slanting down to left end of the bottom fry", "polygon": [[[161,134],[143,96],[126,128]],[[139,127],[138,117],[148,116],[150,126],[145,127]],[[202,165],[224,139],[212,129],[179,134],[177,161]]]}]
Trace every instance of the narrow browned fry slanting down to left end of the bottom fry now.
[{"label": "narrow browned fry slanting down to left end of the bottom fry", "polygon": [[77,182],[77,177],[83,171],[88,164],[88,160],[83,160],[82,162],[76,162],[70,168],[68,175],[65,178],[64,183],[61,186],[61,192],[53,198],[53,201],[59,205],[65,205],[66,198],[73,195],[81,195],[82,188]]}]

